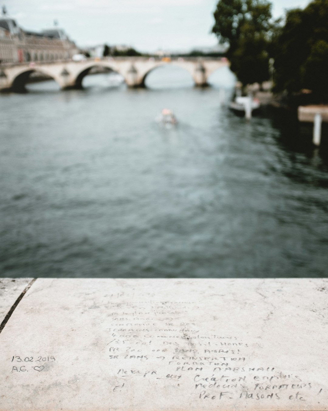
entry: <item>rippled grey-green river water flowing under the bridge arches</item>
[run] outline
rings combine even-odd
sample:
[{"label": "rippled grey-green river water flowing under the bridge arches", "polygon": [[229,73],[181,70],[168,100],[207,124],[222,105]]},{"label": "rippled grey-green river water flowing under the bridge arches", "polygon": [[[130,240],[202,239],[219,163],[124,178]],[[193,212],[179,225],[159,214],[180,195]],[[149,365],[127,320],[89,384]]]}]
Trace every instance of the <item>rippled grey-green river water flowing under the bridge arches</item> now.
[{"label": "rippled grey-green river water flowing under the bridge arches", "polygon": [[326,276],[323,150],[230,113],[228,69],[212,83],[157,69],[148,89],[102,74],[0,95],[0,275]]}]

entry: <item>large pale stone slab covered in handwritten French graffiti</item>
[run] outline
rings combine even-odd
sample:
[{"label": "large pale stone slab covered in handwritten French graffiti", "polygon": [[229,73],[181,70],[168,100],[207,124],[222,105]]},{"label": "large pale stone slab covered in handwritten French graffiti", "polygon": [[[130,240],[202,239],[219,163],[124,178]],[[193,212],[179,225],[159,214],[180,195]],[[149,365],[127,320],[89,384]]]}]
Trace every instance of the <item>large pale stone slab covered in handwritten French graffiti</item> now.
[{"label": "large pale stone slab covered in handwritten French graffiti", "polygon": [[328,410],[327,279],[37,279],[1,411]]}]

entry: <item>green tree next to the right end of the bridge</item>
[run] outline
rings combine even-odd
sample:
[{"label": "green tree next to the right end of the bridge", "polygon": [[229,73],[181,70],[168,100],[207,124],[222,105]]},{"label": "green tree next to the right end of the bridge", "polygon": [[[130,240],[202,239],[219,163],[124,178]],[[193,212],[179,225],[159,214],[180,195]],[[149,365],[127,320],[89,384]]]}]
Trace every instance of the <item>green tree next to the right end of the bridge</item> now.
[{"label": "green tree next to the right end of the bridge", "polygon": [[220,43],[229,43],[230,68],[244,84],[269,79],[271,17],[266,0],[220,0],[216,6],[212,32]]}]

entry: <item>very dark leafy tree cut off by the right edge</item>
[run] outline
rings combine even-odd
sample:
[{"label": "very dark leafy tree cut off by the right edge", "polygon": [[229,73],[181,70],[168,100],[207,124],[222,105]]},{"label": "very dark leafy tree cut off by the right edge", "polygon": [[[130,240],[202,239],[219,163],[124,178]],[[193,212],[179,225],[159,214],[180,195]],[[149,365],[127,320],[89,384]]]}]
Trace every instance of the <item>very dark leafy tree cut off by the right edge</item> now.
[{"label": "very dark leafy tree cut off by the right edge", "polygon": [[274,67],[277,91],[306,88],[319,101],[328,100],[328,0],[287,12]]}]

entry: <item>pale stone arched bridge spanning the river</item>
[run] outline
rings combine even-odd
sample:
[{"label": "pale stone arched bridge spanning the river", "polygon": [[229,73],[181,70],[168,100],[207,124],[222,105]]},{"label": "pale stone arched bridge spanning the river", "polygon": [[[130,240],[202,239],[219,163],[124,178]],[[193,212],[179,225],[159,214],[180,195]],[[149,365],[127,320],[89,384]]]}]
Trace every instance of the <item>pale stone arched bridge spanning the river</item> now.
[{"label": "pale stone arched bridge spanning the river", "polygon": [[187,70],[198,86],[207,85],[207,79],[216,69],[228,66],[225,58],[103,58],[80,62],[53,63],[30,62],[16,65],[0,65],[0,90],[23,90],[29,76],[39,72],[51,77],[62,89],[81,88],[82,79],[94,67],[103,67],[121,74],[129,87],[144,87],[146,76],[155,68],[174,65]]}]

